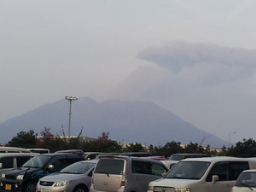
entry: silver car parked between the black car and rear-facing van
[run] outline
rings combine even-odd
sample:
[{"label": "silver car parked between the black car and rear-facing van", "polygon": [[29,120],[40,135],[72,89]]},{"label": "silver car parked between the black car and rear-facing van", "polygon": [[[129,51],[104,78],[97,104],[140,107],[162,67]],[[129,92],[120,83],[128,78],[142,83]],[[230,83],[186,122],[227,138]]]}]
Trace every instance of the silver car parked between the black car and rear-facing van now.
[{"label": "silver car parked between the black car and rear-facing van", "polygon": [[38,192],[88,192],[97,160],[83,160],[62,169],[61,172],[42,177]]}]

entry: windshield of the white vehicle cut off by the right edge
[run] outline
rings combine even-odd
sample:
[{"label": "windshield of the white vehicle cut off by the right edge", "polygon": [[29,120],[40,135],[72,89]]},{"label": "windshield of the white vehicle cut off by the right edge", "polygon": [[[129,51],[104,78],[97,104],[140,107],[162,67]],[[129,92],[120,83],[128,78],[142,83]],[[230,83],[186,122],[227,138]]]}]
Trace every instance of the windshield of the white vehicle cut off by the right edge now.
[{"label": "windshield of the white vehicle cut off by the right edge", "polygon": [[256,188],[256,172],[242,172],[235,186]]}]

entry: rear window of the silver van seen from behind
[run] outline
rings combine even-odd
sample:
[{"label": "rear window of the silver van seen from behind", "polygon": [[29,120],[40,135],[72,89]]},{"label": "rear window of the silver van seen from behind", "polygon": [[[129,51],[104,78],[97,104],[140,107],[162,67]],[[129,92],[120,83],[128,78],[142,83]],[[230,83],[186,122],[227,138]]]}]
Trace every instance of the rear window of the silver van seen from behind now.
[{"label": "rear window of the silver van seen from behind", "polygon": [[124,166],[125,160],[100,159],[96,165],[95,173],[122,175]]}]

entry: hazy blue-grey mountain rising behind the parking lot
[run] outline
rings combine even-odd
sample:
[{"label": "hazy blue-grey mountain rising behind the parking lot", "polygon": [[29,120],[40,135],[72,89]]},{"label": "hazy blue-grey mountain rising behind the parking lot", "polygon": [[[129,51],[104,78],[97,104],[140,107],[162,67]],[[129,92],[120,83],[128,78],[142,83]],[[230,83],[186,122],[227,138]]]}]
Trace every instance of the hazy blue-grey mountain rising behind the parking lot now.
[{"label": "hazy blue-grey mountain rising behind the parking lot", "polygon": [[[33,130],[38,135],[49,127],[54,135],[68,134],[69,102],[62,99],[24,113],[0,124],[0,143],[7,143],[20,131]],[[99,137],[108,131],[112,140],[120,143],[142,143],[154,146],[167,142],[210,144],[223,147],[224,140],[201,131],[152,102],[95,102],[89,97],[72,103],[71,136]]]}]

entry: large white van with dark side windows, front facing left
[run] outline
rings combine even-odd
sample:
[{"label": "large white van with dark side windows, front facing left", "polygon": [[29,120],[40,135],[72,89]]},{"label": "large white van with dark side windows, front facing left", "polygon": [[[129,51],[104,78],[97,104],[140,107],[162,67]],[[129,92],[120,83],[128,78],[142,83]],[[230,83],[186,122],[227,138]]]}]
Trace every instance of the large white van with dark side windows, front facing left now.
[{"label": "large white van with dark side windows, front facing left", "polygon": [[256,168],[256,158],[203,157],[179,161],[148,192],[229,192],[240,173]]}]

